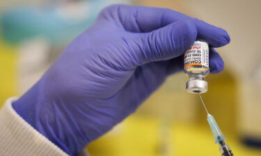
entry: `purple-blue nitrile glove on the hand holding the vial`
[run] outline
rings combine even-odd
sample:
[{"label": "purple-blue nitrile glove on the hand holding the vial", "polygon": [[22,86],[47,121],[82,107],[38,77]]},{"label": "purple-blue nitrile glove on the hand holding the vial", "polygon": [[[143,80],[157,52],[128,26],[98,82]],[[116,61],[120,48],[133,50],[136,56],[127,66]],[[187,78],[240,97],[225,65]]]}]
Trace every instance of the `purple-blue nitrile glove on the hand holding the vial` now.
[{"label": "purple-blue nitrile glove on the hand holding the vial", "polygon": [[[230,42],[223,29],[180,12],[109,6],[13,107],[42,135],[77,155],[182,70],[182,54],[196,38],[212,48]],[[210,69],[223,69],[213,49]]]}]

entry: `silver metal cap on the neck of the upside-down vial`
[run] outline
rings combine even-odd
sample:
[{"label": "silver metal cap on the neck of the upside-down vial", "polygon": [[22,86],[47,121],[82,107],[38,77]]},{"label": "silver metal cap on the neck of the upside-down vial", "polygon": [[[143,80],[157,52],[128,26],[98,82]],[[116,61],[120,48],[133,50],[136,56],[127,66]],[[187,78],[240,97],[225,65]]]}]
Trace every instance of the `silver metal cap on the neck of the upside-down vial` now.
[{"label": "silver metal cap on the neck of the upside-down vial", "polygon": [[205,80],[189,80],[186,83],[186,89],[189,93],[197,94],[207,92],[207,81]]}]

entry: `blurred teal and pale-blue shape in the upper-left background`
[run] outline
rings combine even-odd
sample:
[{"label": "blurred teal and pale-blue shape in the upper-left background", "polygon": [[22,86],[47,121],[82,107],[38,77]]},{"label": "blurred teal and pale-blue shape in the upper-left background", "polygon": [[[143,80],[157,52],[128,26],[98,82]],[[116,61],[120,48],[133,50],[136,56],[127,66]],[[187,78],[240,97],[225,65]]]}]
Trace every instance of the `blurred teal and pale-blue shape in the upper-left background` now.
[{"label": "blurred teal and pale-blue shape in the upper-left background", "polygon": [[[19,44],[23,40],[40,36],[52,44],[67,43],[86,30],[102,8],[116,2],[120,1],[76,1],[79,4],[73,6],[74,10],[70,10],[72,7],[66,10],[65,7],[58,8],[52,4],[45,8],[19,6],[6,10],[0,17],[3,40]],[[75,12],[78,14],[75,15]]]}]

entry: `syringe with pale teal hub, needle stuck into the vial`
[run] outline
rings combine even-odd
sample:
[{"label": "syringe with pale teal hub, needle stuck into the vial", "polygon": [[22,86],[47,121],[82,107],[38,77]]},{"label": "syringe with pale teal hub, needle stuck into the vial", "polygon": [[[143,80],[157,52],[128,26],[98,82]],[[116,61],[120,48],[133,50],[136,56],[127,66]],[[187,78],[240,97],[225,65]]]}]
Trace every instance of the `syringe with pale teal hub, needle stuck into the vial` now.
[{"label": "syringe with pale teal hub, needle stuck into the vial", "polygon": [[223,134],[219,128],[219,125],[216,123],[216,120],[214,119],[214,116],[209,114],[209,112],[207,111],[207,107],[205,106],[205,103],[203,102],[203,99],[200,96],[200,93],[198,93],[198,96],[200,97],[200,100],[203,103],[203,106],[205,107],[205,110],[207,112],[207,121],[209,123],[209,127],[212,130],[214,138],[216,139],[215,143],[219,144],[219,150],[221,152],[221,155],[233,156],[232,150],[230,150],[230,147],[228,146],[228,144],[225,143],[226,137],[223,136]]}]

